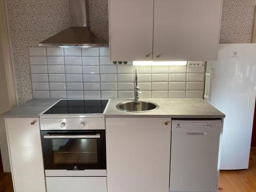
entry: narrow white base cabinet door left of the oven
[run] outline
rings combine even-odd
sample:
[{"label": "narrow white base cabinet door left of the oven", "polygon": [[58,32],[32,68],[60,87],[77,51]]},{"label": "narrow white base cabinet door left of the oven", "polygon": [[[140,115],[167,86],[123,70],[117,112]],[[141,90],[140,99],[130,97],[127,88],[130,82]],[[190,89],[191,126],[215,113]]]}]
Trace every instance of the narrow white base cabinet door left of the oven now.
[{"label": "narrow white base cabinet door left of the oven", "polygon": [[6,125],[15,192],[45,192],[39,119],[7,118]]}]

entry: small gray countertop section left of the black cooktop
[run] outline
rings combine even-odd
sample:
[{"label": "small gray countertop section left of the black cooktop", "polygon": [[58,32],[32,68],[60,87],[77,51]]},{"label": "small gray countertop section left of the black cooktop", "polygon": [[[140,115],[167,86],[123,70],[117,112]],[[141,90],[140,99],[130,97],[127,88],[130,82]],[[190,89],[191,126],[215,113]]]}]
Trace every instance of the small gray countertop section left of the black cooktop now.
[{"label": "small gray countertop section left of the black cooktop", "polygon": [[31,99],[0,115],[5,118],[37,118],[39,114],[56,103],[59,99]]}]

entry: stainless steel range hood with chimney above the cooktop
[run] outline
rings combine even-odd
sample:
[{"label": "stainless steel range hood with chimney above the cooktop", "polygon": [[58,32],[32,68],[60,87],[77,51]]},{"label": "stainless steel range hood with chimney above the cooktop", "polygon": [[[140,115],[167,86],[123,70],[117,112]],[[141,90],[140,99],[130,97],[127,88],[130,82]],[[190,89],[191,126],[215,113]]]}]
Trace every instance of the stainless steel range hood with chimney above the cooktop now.
[{"label": "stainless steel range hood with chimney above the cooktop", "polygon": [[86,0],[69,0],[71,27],[39,42],[40,47],[106,47],[87,27]]}]

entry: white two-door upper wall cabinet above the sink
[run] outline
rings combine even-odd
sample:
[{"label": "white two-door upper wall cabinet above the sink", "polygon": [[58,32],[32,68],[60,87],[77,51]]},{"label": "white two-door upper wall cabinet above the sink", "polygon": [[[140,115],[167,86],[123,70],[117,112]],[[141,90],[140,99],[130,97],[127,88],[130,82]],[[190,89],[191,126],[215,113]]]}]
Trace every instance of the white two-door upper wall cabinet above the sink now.
[{"label": "white two-door upper wall cabinet above the sink", "polygon": [[217,60],[222,0],[109,0],[111,60]]}]

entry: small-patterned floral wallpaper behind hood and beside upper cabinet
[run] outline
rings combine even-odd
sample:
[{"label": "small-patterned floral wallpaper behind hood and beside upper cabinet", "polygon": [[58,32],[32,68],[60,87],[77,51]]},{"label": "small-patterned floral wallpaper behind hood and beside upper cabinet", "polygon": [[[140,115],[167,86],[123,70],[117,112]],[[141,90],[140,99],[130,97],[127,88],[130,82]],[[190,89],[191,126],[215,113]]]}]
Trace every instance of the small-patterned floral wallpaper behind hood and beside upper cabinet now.
[{"label": "small-patterned floral wallpaper behind hood and beside upper cabinet", "polygon": [[[68,0],[5,0],[18,103],[32,98],[28,47],[69,27]],[[86,0],[89,26],[109,41],[108,0]],[[220,43],[249,43],[254,20],[253,0],[223,0]]]}]

